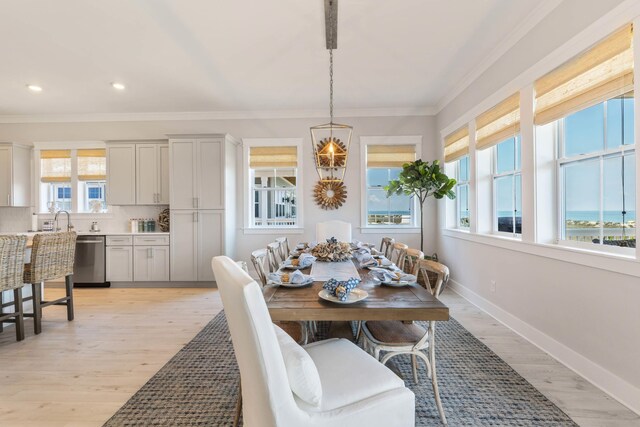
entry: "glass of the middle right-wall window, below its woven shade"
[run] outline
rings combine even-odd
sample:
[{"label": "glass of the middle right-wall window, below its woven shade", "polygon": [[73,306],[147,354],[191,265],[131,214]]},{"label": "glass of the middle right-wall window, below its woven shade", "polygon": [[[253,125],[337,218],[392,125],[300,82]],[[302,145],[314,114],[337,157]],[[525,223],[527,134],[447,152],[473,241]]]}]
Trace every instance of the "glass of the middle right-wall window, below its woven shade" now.
[{"label": "glass of the middle right-wall window, below its woven shade", "polygon": [[495,146],[493,164],[493,229],[514,236],[522,234],[522,177],[519,135]]}]

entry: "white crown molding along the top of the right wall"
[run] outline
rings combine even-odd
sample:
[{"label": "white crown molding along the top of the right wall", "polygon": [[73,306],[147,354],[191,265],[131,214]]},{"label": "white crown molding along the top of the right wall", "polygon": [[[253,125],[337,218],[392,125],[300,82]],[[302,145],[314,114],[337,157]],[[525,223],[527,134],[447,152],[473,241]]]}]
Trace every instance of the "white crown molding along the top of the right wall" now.
[{"label": "white crown molding along the top of the right wall", "polygon": [[505,53],[509,51],[516,43],[518,43],[529,31],[540,23],[551,13],[556,7],[562,3],[562,0],[543,0],[516,26],[496,47],[485,56],[480,63],[471,68],[454,87],[448,91],[436,104],[436,113],[444,109],[451,101],[460,95],[466,88],[476,81],[485,71],[489,69],[496,61],[498,61]]}]

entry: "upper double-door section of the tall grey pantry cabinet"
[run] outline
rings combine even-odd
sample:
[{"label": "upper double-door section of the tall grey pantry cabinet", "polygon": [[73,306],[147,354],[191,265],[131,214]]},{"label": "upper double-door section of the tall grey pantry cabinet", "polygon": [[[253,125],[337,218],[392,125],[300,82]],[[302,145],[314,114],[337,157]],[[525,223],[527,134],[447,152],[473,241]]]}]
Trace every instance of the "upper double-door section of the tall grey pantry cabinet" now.
[{"label": "upper double-door section of the tall grey pantry cabinet", "polygon": [[171,183],[180,189],[171,192],[171,208],[228,209],[236,145],[228,135],[170,135]]}]

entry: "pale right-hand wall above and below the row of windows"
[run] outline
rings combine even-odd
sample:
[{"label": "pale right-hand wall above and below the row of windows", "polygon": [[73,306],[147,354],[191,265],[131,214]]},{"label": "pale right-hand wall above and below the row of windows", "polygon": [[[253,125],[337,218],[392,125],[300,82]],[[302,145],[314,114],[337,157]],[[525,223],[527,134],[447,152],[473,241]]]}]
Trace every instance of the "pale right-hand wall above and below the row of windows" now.
[{"label": "pale right-hand wall above and below the row of windows", "polygon": [[[619,3],[623,2],[565,0],[438,114],[438,131],[450,127]],[[536,255],[525,250],[526,243],[514,244],[521,245],[520,251],[513,250],[514,245],[505,248],[496,238],[442,232],[444,220],[440,209],[438,249],[451,269],[454,288],[640,412],[638,277],[624,270],[613,272],[554,259],[551,252]],[[495,292],[491,291],[492,280],[496,281]]]}]

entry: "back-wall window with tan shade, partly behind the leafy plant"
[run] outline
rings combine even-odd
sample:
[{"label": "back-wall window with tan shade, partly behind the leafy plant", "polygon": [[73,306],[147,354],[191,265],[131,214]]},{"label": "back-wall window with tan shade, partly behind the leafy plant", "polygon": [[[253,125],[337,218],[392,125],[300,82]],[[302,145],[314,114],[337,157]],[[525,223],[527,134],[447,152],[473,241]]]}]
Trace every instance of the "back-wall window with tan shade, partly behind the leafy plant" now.
[{"label": "back-wall window with tan shade, partly behind the leafy plant", "polygon": [[413,197],[387,197],[384,187],[398,179],[402,165],[416,160],[415,145],[366,145],[367,226],[415,226],[416,205]]}]

